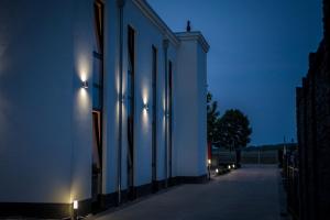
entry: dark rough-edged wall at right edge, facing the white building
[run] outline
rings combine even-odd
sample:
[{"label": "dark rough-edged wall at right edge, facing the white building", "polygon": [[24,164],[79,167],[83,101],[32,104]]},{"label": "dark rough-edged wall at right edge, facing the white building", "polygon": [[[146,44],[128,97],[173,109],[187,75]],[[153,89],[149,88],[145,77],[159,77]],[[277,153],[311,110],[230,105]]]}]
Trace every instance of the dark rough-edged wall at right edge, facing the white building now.
[{"label": "dark rough-edged wall at right edge, facing the white building", "polygon": [[324,0],[324,38],[309,55],[309,70],[297,88],[300,219],[330,216],[329,3]]}]

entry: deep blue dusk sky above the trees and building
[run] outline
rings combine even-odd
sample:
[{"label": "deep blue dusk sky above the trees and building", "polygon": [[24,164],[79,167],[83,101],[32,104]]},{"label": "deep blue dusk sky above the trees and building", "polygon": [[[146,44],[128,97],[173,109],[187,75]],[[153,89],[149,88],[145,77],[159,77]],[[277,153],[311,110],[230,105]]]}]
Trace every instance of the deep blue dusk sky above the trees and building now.
[{"label": "deep blue dusk sky above the trees and building", "polygon": [[295,87],[322,38],[321,0],[148,0],[175,31],[191,21],[211,48],[208,85],[220,113],[238,108],[252,144],[296,140]]}]

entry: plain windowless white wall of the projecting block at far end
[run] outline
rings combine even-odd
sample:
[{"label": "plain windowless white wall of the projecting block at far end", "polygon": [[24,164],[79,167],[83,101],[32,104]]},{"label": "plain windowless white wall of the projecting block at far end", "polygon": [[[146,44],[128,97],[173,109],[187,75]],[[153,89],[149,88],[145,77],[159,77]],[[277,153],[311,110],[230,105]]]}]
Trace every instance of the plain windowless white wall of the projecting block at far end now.
[{"label": "plain windowless white wall of the projecting block at far end", "polygon": [[[183,37],[180,37],[183,36]],[[200,35],[201,36],[201,35]],[[207,167],[206,51],[196,33],[182,33],[175,75],[176,170],[178,176],[201,176]]]}]

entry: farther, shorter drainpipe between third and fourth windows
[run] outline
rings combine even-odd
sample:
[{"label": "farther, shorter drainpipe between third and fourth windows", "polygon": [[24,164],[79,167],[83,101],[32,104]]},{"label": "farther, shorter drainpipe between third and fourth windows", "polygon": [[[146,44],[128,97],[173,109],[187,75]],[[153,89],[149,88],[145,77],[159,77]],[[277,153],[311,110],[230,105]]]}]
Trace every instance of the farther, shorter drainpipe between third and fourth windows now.
[{"label": "farther, shorter drainpipe between third and fourth windows", "polygon": [[165,188],[167,188],[168,185],[168,178],[167,178],[167,145],[168,145],[168,70],[167,70],[167,50],[168,50],[168,40],[163,41],[163,48],[164,48],[164,62],[165,62]]}]

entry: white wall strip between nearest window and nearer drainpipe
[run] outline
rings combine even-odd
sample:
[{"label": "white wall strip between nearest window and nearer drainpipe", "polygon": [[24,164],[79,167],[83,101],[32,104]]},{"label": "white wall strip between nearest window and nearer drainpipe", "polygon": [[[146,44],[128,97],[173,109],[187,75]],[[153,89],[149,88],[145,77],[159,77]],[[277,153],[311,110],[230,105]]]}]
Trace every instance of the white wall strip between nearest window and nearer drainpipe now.
[{"label": "white wall strip between nearest window and nearer drainpipe", "polygon": [[117,190],[119,123],[119,33],[116,0],[105,2],[103,194]]}]

